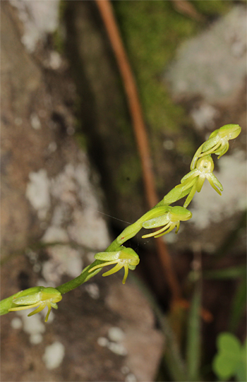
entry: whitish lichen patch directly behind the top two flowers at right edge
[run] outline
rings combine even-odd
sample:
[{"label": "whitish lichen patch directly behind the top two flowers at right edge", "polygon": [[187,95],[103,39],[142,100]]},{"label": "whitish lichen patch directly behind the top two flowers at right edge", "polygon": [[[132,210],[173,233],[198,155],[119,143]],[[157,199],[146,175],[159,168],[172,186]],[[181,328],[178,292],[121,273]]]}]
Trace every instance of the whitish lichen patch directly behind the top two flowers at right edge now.
[{"label": "whitish lichen patch directly behind the top two flowers at right edge", "polygon": [[193,218],[189,221],[196,229],[204,229],[210,222],[220,222],[236,212],[246,210],[246,159],[243,151],[219,159],[215,176],[222,183],[222,196],[215,193],[208,182],[193,198]]}]

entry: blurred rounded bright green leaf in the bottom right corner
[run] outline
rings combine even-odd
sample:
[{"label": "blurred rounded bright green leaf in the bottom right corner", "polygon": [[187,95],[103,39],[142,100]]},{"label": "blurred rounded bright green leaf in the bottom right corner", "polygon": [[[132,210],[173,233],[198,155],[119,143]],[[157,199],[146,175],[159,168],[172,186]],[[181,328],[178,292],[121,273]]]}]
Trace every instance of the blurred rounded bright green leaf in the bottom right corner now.
[{"label": "blurred rounded bright green leaf in the bottom right corner", "polygon": [[246,381],[246,342],[241,342],[231,333],[220,333],[217,337],[218,352],[212,367],[221,381],[236,376],[237,381]]}]

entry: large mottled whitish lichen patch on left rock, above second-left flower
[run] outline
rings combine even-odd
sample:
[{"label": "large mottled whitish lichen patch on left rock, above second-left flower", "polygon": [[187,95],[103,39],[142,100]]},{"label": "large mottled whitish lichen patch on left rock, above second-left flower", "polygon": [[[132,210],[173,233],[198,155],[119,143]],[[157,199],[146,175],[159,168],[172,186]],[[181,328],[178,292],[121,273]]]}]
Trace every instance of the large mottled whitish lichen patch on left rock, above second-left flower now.
[{"label": "large mottled whitish lichen patch on left rock, above second-left flower", "polygon": [[59,200],[60,210],[54,211],[53,225],[59,226],[66,211],[61,205],[72,208],[68,235],[73,241],[89,248],[101,250],[109,245],[109,233],[95,189],[90,182],[90,170],[86,163],[66,165],[51,181],[52,196]]}]

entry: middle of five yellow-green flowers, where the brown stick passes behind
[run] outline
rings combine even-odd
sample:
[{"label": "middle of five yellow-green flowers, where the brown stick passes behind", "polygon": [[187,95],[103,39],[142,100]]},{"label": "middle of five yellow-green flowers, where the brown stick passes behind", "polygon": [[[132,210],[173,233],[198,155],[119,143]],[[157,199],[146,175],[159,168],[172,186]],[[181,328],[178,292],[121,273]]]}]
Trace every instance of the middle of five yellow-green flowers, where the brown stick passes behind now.
[{"label": "middle of five yellow-green flowers, where the brown stick passes behind", "polygon": [[164,234],[168,234],[172,229],[176,227],[176,233],[179,232],[180,221],[189,220],[192,217],[191,211],[186,210],[186,208],[175,206],[166,206],[167,212],[159,217],[154,217],[150,220],[143,222],[143,228],[157,228],[162,227],[159,231],[151,232],[150,234],[145,234],[145,237],[160,237]]}]

